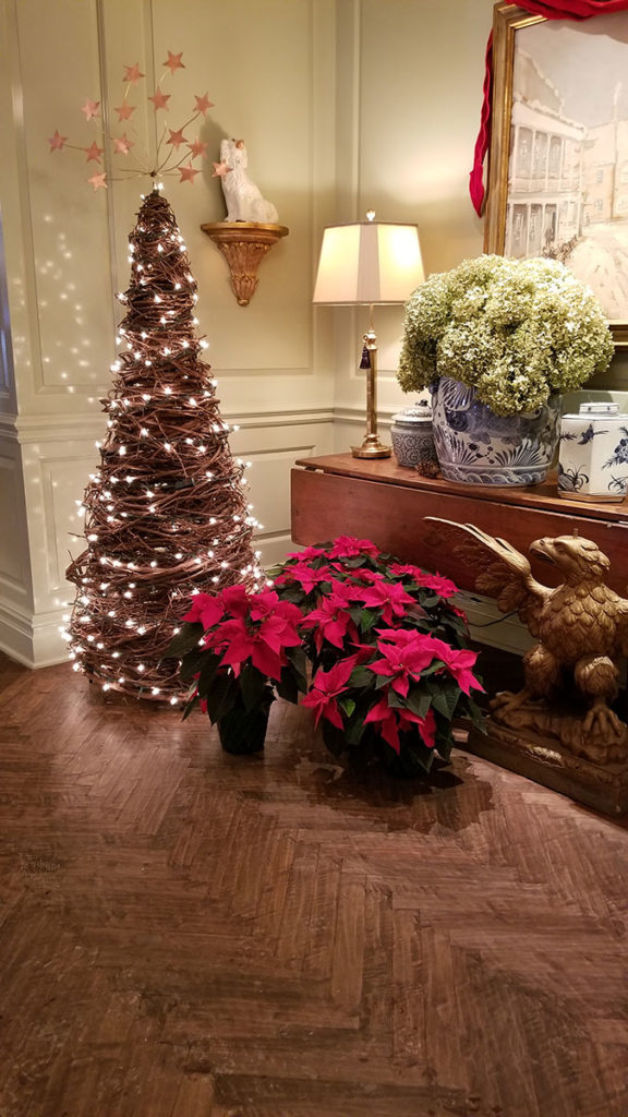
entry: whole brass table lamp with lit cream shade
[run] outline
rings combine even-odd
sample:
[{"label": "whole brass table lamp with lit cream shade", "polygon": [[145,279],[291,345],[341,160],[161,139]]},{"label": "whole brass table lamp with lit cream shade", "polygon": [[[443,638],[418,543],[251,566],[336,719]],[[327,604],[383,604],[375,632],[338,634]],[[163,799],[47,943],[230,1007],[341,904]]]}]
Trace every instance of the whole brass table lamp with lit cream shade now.
[{"label": "whole brass table lamp with lit cream shade", "polygon": [[330,225],[323,232],[313,302],[327,306],[368,306],[360,367],[367,371],[367,433],[352,446],[354,458],[388,458],[390,446],[378,435],[378,340],[373,306],[405,303],[425,279],[416,225],[375,221]]}]

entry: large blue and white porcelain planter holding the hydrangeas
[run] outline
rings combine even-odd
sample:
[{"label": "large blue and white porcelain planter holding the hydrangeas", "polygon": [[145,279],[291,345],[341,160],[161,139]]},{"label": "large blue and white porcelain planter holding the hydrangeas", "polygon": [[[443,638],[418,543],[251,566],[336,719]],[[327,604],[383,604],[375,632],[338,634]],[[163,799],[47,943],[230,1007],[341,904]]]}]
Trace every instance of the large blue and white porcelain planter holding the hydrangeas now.
[{"label": "large blue and white porcelain planter holding the hydrangeas", "polygon": [[560,397],[530,414],[496,416],[475,388],[451,376],[431,386],[434,441],[443,476],[466,485],[537,485],[558,441]]}]

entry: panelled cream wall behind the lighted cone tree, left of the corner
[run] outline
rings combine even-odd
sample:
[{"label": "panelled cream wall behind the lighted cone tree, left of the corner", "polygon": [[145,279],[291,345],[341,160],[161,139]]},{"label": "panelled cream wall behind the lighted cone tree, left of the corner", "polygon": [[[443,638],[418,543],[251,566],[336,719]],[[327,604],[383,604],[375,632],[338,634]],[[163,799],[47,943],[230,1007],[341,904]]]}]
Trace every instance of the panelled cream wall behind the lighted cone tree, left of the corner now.
[{"label": "panelled cream wall behind the lighted cone tree, left of the corner", "polygon": [[[101,101],[116,132],[123,65],[146,74],[132,96],[137,145],[154,142],[145,96],[166,50],[183,52],[169,124],[190,115],[196,94],[216,107],[199,133],[209,159],[193,187],[165,192],[199,286],[198,317],[210,343],[225,418],[240,423],[231,446],[251,460],[251,499],[264,524],[264,558],[289,542],[289,467],[332,449],[331,323],[311,303],[320,230],[334,219],[334,0],[1,0],[0,166],[9,289],[11,365],[0,392],[0,647],[29,663],[64,657],[58,624],[74,586],[76,504],[97,464],[118,318],[114,293],[129,281],[126,237],[150,180],[94,193],[85,154],[50,154],[56,127],[93,139],[80,105]],[[135,94],[135,90],[133,90]],[[127,130],[129,131],[129,130]],[[132,134],[132,133],[130,133]],[[201,231],[225,206],[211,160],[220,139],[244,136],[251,176],[289,236],[260,267],[259,288],[239,307],[228,269]]]}]

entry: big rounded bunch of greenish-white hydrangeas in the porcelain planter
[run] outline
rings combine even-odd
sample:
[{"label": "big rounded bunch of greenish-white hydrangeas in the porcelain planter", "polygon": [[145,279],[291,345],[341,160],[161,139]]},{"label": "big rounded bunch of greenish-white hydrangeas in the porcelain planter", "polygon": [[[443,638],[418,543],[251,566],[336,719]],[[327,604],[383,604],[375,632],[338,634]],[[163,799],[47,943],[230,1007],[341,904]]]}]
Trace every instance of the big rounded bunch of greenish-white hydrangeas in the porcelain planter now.
[{"label": "big rounded bunch of greenish-white hydrangeas in the porcelain planter", "polygon": [[522,414],[580,388],[612,353],[594,295],[563,264],[480,256],[410,296],[398,380],[415,392],[453,376],[495,414]]}]

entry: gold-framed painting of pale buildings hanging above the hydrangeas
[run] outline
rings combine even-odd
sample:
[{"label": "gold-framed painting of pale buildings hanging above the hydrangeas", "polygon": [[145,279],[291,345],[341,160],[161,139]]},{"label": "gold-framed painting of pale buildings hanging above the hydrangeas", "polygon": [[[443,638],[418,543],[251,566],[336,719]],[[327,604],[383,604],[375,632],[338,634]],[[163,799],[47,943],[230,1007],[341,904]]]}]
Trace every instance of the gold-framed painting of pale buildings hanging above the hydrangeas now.
[{"label": "gold-framed painting of pale buildings hanging above the hydrangeas", "polygon": [[499,3],[484,248],[561,260],[628,346],[628,11],[577,22]]}]

